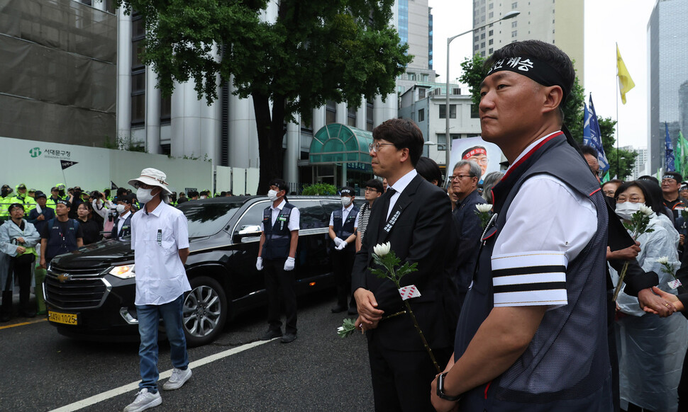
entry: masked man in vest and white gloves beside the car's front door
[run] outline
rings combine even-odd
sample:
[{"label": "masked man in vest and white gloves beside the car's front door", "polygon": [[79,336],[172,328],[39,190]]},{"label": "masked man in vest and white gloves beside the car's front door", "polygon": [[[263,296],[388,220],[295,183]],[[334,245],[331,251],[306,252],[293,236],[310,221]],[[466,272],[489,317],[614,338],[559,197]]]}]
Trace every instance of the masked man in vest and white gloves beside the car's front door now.
[{"label": "masked man in vest and white gloves beside the car's front door", "polygon": [[[282,343],[296,339],[296,292],[294,291],[294,258],[299,244],[299,210],[287,202],[289,185],[282,179],[270,182],[267,197],[272,202],[263,210],[260,229],[260,245],[255,263],[257,270],[265,273],[267,290],[267,332],[262,341],[282,336]],[[282,335],[279,320],[279,290],[282,289],[287,321]]]}]

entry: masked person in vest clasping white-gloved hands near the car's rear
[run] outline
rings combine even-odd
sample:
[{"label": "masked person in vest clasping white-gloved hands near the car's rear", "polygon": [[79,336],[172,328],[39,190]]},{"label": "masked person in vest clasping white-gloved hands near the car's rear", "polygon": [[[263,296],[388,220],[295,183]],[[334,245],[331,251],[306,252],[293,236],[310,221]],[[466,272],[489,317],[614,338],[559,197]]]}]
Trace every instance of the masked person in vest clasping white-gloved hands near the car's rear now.
[{"label": "masked person in vest clasping white-gloved hands near the car's rear", "polygon": [[330,214],[330,258],[332,272],[337,285],[337,306],[331,309],[333,314],[347,310],[346,301],[349,300],[348,311],[358,314],[356,300],[351,293],[351,269],[356,253],[356,228],[358,227],[358,207],[355,207],[353,188],[345,186],[339,191],[342,208],[333,210]]}]

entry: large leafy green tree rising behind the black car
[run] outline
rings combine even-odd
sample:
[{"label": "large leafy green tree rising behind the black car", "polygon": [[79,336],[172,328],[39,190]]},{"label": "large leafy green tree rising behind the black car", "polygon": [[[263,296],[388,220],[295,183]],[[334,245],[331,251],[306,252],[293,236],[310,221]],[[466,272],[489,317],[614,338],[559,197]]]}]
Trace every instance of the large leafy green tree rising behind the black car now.
[{"label": "large leafy green tree rising behind the black car", "polygon": [[[118,0],[143,16],[143,62],[163,96],[193,80],[199,99],[234,93],[253,98],[258,135],[258,193],[282,175],[285,122],[309,123],[327,101],[360,107],[361,96],[387,96],[412,56],[389,24],[394,0],[282,0],[277,19],[261,20],[267,0]],[[219,52],[217,52],[218,50]]]}]

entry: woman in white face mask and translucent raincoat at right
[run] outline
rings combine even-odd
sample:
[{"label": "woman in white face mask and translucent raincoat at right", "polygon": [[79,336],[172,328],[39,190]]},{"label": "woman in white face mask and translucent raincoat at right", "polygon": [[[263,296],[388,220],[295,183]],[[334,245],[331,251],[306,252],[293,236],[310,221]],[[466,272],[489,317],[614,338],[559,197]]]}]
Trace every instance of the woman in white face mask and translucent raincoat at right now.
[{"label": "woman in white face mask and translucent raincoat at right", "polygon": [[[658,259],[667,257],[670,265],[679,267],[679,236],[661,213],[661,200],[653,195],[647,184],[631,181],[619,186],[615,194],[616,214],[628,223],[641,205],[653,210],[648,229],[636,239],[640,242],[637,260],[645,272],[652,270],[659,275],[661,290],[676,294],[677,290],[669,285],[674,278],[662,270]],[[614,269],[610,272],[614,282],[618,282],[618,273]],[[688,347],[685,319],[680,316],[660,318],[645,313],[640,309],[638,298],[624,292],[618,295],[616,304],[621,408],[628,410],[628,404],[634,404],[650,411],[675,411],[681,377],[679,365]]]}]

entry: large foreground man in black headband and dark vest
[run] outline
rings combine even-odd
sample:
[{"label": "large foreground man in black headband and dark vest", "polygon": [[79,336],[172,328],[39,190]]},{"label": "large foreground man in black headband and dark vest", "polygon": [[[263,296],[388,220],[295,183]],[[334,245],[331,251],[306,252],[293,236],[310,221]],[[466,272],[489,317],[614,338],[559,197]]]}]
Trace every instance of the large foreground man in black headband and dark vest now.
[{"label": "large foreground man in black headband and dark vest", "polygon": [[[606,204],[562,132],[575,71],[537,40],[487,61],[482,138],[509,161],[457,325],[433,382],[438,411],[611,411]],[[564,128],[565,129],[565,128]]]}]

